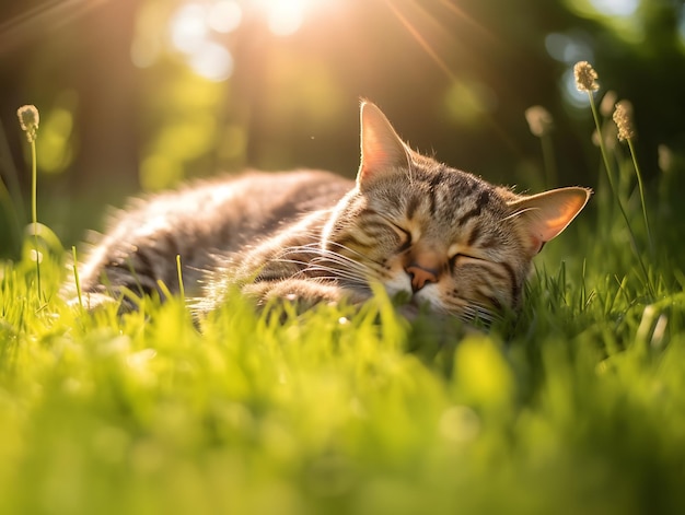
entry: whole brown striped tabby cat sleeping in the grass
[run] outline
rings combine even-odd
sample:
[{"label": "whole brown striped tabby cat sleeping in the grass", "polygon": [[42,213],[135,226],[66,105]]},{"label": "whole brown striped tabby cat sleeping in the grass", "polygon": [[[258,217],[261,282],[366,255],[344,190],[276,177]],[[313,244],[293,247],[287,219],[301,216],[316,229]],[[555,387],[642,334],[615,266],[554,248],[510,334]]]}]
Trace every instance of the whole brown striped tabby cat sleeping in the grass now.
[{"label": "whole brown striped tabby cat sleeping in the grass", "polygon": [[356,180],[252,172],[136,200],[81,267],[84,303],[179,291],[200,312],[240,288],[272,299],[362,303],[380,283],[471,320],[516,309],[533,257],[588,202],[581,187],[521,196],[411,150],[370,102]]}]

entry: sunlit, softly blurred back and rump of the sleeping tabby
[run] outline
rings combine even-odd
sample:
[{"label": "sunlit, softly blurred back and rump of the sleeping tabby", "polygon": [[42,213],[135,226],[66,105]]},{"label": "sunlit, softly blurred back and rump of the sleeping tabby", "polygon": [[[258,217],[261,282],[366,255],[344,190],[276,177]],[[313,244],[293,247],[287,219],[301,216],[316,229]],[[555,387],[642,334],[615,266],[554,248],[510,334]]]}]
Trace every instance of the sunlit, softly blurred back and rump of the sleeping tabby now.
[{"label": "sunlit, softly blurred back and rump of the sleeping tabby", "polygon": [[84,282],[96,284],[103,270],[126,269],[131,261],[166,278],[176,255],[191,274],[211,264],[212,253],[236,251],[287,231],[305,214],[333,208],[352,187],[352,180],[323,171],[247,172],[133,199],[113,213],[86,253]]}]

